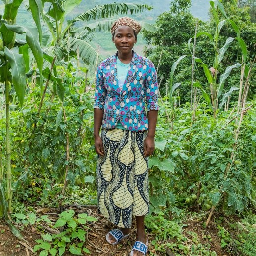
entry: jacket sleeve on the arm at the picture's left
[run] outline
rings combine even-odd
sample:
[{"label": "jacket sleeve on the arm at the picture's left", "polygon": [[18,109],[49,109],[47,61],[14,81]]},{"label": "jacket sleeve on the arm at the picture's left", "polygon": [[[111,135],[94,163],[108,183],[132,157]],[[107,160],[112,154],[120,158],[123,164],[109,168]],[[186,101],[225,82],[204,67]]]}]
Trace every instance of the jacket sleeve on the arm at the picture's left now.
[{"label": "jacket sleeve on the arm at the picture's left", "polygon": [[94,108],[104,110],[105,98],[106,98],[106,88],[104,87],[104,77],[102,66],[99,64],[96,73],[96,89],[95,89],[95,102]]}]

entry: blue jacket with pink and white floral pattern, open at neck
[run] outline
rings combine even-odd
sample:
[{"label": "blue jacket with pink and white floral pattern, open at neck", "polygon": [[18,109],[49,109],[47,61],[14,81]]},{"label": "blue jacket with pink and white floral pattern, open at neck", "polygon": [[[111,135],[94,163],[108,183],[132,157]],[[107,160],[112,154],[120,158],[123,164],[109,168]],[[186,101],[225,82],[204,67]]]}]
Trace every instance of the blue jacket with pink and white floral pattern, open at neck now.
[{"label": "blue jacket with pink and white floral pattern, open at neck", "polygon": [[130,131],[148,129],[147,111],[158,110],[158,83],[154,64],[133,52],[127,77],[120,89],[117,53],[97,68],[94,108],[104,110],[102,128],[113,129],[118,121]]}]

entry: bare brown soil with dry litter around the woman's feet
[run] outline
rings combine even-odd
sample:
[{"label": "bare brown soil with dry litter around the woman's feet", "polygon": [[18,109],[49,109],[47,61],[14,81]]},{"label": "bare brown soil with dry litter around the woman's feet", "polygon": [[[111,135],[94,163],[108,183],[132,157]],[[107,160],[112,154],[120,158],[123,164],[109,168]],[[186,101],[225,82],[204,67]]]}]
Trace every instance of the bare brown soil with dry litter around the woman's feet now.
[{"label": "bare brown soil with dry litter around the woman's feet", "polygon": [[[106,242],[105,235],[113,228],[113,226],[111,226],[106,219],[97,213],[96,208],[79,209],[76,207],[73,209],[76,213],[87,212],[90,216],[98,217],[98,221],[91,224],[91,230],[88,232],[87,236],[87,248],[91,251],[92,256],[129,256],[129,252],[136,236],[135,228],[132,229],[131,235],[128,239],[125,239],[116,246],[111,246]],[[52,214],[51,216],[54,216],[54,213],[57,212],[57,209],[51,209],[49,212],[44,212],[44,214]],[[192,231],[197,234],[197,237],[200,239],[202,244],[210,243],[211,249],[217,252],[218,256],[229,256],[220,247],[220,239],[217,235],[218,229],[214,224],[209,224],[207,229],[203,228],[202,222],[196,220],[190,220],[184,224],[187,225],[183,228],[183,234],[188,238],[188,241],[186,242],[187,246],[190,246],[190,242],[192,242],[193,238],[190,233],[190,231]],[[38,230],[41,229],[35,228],[31,225],[25,227],[21,230],[25,241],[20,241],[11,233],[9,227],[0,220],[0,256],[39,255],[39,253],[32,252],[32,248],[36,244],[35,240],[41,238]],[[147,234],[147,238],[149,241],[148,251],[154,253],[155,256],[175,256],[175,254],[170,251],[166,251],[165,253],[155,252],[154,246],[150,243],[154,237],[151,234]],[[168,242],[173,243],[175,240],[170,240]],[[71,254],[65,253],[64,255],[68,256]],[[147,255],[149,255],[149,253]]]}]

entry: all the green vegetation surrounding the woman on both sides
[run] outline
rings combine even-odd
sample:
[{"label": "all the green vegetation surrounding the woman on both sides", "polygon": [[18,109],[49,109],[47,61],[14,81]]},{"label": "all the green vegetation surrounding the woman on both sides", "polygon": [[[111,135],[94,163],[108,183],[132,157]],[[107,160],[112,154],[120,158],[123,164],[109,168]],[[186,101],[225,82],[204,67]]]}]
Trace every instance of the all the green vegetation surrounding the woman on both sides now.
[{"label": "all the green vegetation surrounding the woman on both sides", "polygon": [[[86,1],[30,0],[36,27],[27,28],[16,24],[19,17],[9,11],[22,1],[2,2],[0,216],[19,238],[11,219],[20,229],[33,225],[41,233],[34,246],[40,256],[89,254],[87,224],[94,217],[63,210],[52,221],[36,209],[96,205],[93,95],[100,56],[92,39],[111,25],[111,19],[102,18],[129,10],[140,15],[150,7],[88,5],[81,13],[77,5]],[[210,1],[208,22],[194,18],[190,4],[172,1],[155,23],[163,32],[144,25],[145,41],[151,44],[145,51],[158,68],[160,82],[156,149],[149,159],[150,255],[169,250],[214,256],[213,239],[218,239],[218,247],[231,255],[252,256],[256,26],[245,7],[251,2]],[[200,235],[189,229],[192,222],[199,223]]]}]

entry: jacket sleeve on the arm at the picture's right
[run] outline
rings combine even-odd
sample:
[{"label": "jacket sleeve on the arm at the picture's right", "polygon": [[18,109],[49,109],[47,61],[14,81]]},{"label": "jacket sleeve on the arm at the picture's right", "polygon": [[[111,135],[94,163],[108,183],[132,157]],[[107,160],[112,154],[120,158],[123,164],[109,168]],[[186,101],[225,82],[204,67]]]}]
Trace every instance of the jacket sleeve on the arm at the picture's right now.
[{"label": "jacket sleeve on the arm at the picture's right", "polygon": [[158,110],[158,82],[154,64],[149,60],[145,77],[147,111]]}]

